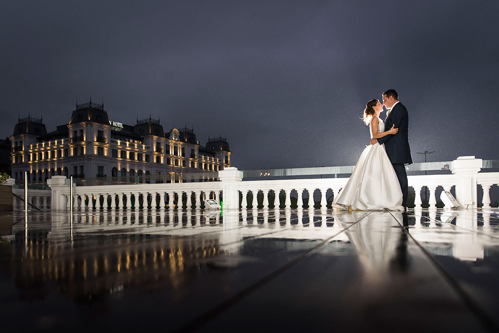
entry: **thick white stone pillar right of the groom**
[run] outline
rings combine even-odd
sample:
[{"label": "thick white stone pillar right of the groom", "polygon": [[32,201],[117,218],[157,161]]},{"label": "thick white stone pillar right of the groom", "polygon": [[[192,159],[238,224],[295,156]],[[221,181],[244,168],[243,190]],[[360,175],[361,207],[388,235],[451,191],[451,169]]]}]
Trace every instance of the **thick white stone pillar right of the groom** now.
[{"label": "thick white stone pillar right of the groom", "polygon": [[477,208],[477,176],[482,169],[482,159],[461,156],[451,162],[452,173],[457,175],[456,200],[460,209]]}]

